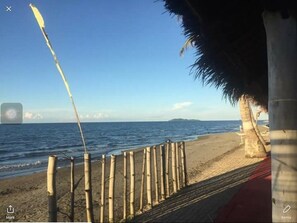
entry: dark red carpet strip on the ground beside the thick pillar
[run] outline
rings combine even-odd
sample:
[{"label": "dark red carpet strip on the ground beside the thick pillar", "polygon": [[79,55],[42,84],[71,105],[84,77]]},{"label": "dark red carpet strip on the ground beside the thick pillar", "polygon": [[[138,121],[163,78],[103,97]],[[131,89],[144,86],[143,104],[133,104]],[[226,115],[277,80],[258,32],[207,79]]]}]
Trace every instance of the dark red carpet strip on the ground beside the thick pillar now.
[{"label": "dark red carpet strip on the ground beside the thick pillar", "polygon": [[215,222],[272,222],[271,159],[263,160]]}]

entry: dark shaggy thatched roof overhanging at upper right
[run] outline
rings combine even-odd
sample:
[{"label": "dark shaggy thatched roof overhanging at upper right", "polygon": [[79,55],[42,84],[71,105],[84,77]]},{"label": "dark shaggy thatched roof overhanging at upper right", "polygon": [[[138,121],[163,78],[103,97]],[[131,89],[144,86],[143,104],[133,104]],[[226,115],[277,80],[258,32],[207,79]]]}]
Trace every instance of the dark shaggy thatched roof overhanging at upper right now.
[{"label": "dark shaggy thatched roof overhanging at upper right", "polygon": [[223,89],[236,102],[248,94],[267,107],[268,72],[262,13],[297,9],[297,1],[164,0],[165,8],[182,17],[197,59],[192,72],[204,83]]}]

